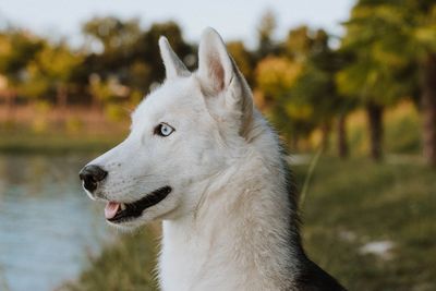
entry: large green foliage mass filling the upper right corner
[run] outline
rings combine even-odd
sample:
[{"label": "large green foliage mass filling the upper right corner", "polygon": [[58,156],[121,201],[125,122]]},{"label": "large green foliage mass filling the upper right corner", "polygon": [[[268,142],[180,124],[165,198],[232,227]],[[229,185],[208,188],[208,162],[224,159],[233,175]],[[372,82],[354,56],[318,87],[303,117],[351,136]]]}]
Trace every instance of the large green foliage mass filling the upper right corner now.
[{"label": "large green foliage mass filling the upper right corner", "polygon": [[436,51],[433,1],[360,1],[346,27],[341,49],[354,58],[338,74],[342,94],[391,105],[416,93],[417,66]]}]

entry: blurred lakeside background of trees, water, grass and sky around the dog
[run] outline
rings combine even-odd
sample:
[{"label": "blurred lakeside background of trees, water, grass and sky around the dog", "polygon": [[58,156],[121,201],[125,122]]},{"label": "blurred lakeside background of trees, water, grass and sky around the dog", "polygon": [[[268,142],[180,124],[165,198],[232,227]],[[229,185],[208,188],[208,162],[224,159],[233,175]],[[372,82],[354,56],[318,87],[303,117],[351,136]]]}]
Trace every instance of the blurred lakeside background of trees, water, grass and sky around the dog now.
[{"label": "blurred lakeside background of trees, water, grass and sky around the dog", "polygon": [[0,2],[0,290],[156,290],[78,170],[215,27],[278,129],[303,240],[349,290],[436,290],[436,1]]}]

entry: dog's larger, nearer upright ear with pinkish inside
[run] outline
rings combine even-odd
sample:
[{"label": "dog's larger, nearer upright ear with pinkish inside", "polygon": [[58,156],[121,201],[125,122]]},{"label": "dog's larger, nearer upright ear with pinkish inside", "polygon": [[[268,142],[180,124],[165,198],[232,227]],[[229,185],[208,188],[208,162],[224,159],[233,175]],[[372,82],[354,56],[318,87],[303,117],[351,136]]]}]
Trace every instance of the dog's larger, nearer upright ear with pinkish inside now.
[{"label": "dog's larger, nearer upright ear with pinkish inside", "polygon": [[225,104],[241,117],[241,135],[253,119],[253,96],[234,60],[229,56],[219,34],[206,28],[198,47],[198,77],[206,95],[226,93]]}]

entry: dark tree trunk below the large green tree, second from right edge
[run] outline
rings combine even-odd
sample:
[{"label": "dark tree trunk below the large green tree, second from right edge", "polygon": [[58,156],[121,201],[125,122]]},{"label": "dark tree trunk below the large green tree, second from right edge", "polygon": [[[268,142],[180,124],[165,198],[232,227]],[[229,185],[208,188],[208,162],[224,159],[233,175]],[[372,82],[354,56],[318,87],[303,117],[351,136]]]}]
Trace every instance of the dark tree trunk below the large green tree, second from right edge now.
[{"label": "dark tree trunk below the large green tree, second from right edge", "polygon": [[383,144],[383,107],[374,102],[366,106],[366,112],[370,123],[370,142],[371,157],[379,161],[382,160]]}]

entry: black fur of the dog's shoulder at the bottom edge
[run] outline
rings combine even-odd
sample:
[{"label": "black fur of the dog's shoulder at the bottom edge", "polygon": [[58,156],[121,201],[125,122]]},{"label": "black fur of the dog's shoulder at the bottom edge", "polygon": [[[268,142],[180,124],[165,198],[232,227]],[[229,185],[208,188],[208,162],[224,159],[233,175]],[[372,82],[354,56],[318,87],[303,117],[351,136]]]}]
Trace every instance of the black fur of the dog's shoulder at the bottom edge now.
[{"label": "black fur of the dog's shoulder at the bottom edge", "polygon": [[308,258],[295,284],[299,291],[347,291],[334,277]]}]

